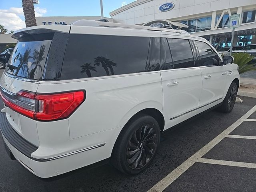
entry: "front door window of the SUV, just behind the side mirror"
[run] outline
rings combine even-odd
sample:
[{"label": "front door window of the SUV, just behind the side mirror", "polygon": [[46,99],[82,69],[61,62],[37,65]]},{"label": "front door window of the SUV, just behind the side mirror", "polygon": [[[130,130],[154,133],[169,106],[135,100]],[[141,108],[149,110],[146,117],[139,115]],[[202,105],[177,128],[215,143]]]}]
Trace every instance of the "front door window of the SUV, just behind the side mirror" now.
[{"label": "front door window of the SUV, just behind the side mirror", "polygon": [[219,56],[216,52],[206,43],[196,41],[199,52],[198,64],[199,66],[219,65]]}]

